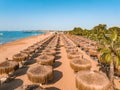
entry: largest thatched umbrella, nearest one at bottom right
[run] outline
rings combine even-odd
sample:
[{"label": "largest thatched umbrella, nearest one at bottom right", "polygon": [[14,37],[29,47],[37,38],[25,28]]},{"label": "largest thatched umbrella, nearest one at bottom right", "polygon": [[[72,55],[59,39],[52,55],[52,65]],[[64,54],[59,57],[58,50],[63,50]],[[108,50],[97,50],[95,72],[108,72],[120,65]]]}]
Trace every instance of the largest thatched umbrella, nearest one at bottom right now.
[{"label": "largest thatched umbrella, nearest one at bottom right", "polygon": [[89,70],[77,73],[76,87],[79,90],[111,90],[110,81],[105,74]]}]

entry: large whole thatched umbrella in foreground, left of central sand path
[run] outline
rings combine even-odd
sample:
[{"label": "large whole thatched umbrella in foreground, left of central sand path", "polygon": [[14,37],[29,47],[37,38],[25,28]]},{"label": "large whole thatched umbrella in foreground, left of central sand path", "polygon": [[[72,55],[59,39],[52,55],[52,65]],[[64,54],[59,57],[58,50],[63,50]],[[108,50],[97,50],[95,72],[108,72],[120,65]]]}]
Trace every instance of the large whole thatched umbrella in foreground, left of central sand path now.
[{"label": "large whole thatched umbrella in foreground, left of central sand path", "polygon": [[27,76],[33,83],[46,83],[53,78],[52,66],[34,65],[28,69]]}]

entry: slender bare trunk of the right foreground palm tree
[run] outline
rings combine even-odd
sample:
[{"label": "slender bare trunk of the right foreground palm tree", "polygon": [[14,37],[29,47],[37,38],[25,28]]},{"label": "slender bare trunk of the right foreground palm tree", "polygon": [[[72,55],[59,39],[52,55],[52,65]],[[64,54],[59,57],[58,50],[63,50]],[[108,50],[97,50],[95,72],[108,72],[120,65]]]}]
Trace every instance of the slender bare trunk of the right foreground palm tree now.
[{"label": "slender bare trunk of the right foreground palm tree", "polygon": [[111,64],[110,64],[110,72],[109,72],[109,78],[112,84],[112,90],[115,90],[114,88],[114,62],[113,59],[111,60]]}]

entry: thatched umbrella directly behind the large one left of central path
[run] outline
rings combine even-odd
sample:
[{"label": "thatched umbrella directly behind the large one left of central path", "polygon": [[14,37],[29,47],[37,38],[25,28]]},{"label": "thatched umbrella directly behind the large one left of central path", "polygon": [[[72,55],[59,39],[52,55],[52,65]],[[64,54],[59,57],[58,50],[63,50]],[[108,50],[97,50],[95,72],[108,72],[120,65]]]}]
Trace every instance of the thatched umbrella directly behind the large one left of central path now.
[{"label": "thatched umbrella directly behind the large one left of central path", "polygon": [[35,60],[42,65],[53,65],[55,57],[53,55],[41,54]]}]

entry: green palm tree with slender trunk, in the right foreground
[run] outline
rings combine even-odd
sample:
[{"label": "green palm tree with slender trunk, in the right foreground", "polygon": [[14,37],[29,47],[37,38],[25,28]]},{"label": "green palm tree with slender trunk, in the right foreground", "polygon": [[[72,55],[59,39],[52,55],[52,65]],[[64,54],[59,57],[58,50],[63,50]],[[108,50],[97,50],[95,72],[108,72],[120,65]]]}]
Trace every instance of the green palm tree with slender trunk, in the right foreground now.
[{"label": "green palm tree with slender trunk, in the right foreground", "polygon": [[103,33],[104,38],[101,40],[102,45],[99,48],[101,53],[100,62],[110,65],[109,79],[114,90],[114,69],[120,65],[120,51],[117,51],[117,32],[112,30],[110,35]]}]

